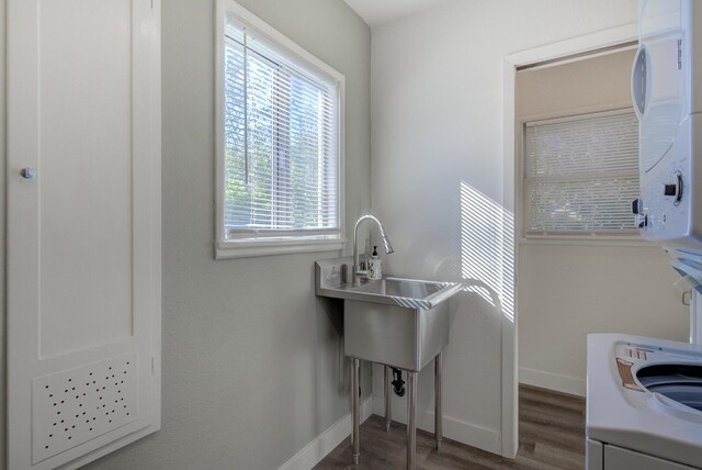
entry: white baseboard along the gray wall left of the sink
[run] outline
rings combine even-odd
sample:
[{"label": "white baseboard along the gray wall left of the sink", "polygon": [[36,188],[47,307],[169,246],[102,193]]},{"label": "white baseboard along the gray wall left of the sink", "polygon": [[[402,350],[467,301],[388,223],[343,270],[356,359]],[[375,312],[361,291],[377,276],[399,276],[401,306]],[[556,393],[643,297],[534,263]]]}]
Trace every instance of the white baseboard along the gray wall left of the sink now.
[{"label": "white baseboard along the gray wall left of the sink", "polygon": [[[361,423],[373,414],[373,398],[361,403]],[[278,470],[309,470],[351,434],[351,413],[329,426],[324,433],[307,444]]]}]

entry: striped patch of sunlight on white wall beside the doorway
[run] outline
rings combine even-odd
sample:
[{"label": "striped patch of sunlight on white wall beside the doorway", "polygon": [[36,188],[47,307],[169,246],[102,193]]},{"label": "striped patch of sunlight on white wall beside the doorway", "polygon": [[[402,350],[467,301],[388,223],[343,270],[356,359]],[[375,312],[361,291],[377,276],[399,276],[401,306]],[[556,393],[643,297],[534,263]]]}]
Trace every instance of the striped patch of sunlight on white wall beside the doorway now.
[{"label": "striped patch of sunlight on white wall beside the doorway", "polygon": [[514,322],[514,214],[461,181],[461,279]]}]

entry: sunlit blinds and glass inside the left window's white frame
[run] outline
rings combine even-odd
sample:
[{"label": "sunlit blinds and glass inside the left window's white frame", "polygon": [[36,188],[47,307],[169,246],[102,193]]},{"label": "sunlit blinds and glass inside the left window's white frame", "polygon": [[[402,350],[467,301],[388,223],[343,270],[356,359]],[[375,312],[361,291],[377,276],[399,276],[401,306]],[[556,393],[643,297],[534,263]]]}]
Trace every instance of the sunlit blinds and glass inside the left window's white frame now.
[{"label": "sunlit blinds and glass inside the left window's white frame", "polygon": [[244,31],[227,31],[227,237],[338,230],[336,85],[296,68]]}]

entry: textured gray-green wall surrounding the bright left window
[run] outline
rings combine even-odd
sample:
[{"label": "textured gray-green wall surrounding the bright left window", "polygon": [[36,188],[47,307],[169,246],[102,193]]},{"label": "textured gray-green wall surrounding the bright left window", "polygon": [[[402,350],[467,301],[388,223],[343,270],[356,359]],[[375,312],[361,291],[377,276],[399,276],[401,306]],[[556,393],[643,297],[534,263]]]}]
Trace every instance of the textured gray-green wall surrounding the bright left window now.
[{"label": "textured gray-green wall surrounding the bright left window", "polygon": [[[369,27],[342,0],[240,3],[346,75],[353,227],[371,202]],[[342,316],[314,294],[314,260],[339,253],[214,260],[214,5],[162,1],[162,429],[90,468],[273,469],[350,411]]]}]

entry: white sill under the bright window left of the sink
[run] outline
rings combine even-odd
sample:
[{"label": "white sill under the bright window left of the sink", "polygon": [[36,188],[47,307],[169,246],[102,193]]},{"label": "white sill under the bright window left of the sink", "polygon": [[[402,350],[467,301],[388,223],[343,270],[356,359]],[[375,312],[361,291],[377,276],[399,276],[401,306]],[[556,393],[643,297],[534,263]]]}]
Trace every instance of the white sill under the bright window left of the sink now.
[{"label": "white sill under the bright window left of the sink", "polygon": [[215,248],[215,259],[252,258],[258,256],[291,255],[295,253],[337,251],[343,249],[346,244],[346,238],[219,242]]}]

